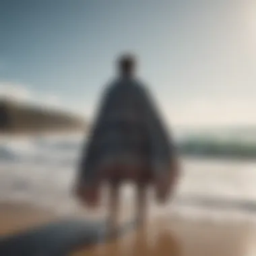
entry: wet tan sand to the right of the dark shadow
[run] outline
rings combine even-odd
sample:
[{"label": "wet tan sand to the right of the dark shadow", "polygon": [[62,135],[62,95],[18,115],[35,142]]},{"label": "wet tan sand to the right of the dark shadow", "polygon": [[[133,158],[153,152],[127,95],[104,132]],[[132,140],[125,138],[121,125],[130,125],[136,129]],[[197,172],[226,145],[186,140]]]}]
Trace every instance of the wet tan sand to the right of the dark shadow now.
[{"label": "wet tan sand to the right of the dark shadow", "polygon": [[[246,224],[214,224],[161,220],[117,241],[84,248],[73,256],[251,256],[255,228]],[[250,245],[249,245],[250,244]]]}]

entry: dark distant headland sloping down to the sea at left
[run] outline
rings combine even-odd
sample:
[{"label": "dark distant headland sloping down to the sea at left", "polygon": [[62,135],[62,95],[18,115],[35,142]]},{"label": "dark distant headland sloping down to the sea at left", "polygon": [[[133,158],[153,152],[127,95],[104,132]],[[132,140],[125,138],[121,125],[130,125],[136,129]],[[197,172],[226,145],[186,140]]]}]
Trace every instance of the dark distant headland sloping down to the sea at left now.
[{"label": "dark distant headland sloping down to the sea at left", "polygon": [[0,98],[0,134],[83,131],[82,117],[49,106],[32,106]]}]

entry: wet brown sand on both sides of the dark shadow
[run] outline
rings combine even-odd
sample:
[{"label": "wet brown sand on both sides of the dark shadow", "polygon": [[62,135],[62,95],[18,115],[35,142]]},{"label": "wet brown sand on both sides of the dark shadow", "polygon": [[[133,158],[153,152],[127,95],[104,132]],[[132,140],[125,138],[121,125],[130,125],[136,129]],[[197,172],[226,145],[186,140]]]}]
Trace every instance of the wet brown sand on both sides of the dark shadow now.
[{"label": "wet brown sand on both sides of the dark shadow", "polygon": [[[46,224],[57,217],[30,205],[1,204],[0,234],[15,234]],[[145,228],[131,230],[123,237],[92,247],[77,249],[79,255],[255,255],[255,228],[247,224],[203,223],[153,217]]]}]

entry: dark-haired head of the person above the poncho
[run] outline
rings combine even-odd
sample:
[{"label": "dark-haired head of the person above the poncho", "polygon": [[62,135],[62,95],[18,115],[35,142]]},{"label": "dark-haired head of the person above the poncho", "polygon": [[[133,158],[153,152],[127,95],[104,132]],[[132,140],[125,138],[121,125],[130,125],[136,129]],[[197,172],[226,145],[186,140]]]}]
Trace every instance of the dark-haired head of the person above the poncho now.
[{"label": "dark-haired head of the person above the poncho", "polygon": [[118,60],[118,69],[121,75],[133,75],[136,67],[136,59],[134,55],[125,54],[121,55]]}]

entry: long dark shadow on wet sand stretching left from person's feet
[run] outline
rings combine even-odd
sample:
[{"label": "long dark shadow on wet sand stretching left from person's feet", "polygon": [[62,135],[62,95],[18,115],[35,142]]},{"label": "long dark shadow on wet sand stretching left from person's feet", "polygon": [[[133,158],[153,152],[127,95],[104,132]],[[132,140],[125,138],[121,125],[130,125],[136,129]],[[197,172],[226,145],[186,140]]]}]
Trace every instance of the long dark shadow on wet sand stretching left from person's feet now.
[{"label": "long dark shadow on wet sand stretching left from person's feet", "polygon": [[0,237],[0,255],[65,256],[76,248],[90,247],[121,236],[133,227],[134,222],[123,224],[113,237],[108,234],[104,221],[61,220]]}]

